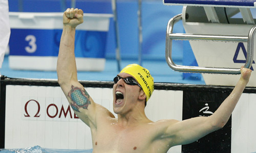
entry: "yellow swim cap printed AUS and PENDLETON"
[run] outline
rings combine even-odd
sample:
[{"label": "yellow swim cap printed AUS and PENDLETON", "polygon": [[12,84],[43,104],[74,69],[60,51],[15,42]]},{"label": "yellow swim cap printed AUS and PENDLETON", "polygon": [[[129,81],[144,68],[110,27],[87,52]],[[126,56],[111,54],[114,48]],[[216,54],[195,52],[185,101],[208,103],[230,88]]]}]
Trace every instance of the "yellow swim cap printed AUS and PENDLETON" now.
[{"label": "yellow swim cap printed AUS and PENDLETON", "polygon": [[120,73],[131,74],[141,85],[146,94],[146,101],[150,99],[154,91],[154,78],[151,76],[150,71],[138,64],[130,64],[124,67]]}]

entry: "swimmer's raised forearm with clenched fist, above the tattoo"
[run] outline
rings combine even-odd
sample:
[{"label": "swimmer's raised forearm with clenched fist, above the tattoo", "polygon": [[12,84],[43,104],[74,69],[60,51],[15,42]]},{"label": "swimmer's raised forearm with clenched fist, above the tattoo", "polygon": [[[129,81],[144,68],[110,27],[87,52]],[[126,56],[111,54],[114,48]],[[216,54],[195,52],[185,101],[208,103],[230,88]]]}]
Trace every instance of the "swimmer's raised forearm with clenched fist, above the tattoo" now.
[{"label": "swimmer's raised forearm with clenched fist, above the tattoo", "polygon": [[75,62],[75,30],[77,25],[83,22],[83,11],[78,9],[67,9],[63,14],[63,31],[59,45],[57,61],[58,83],[63,92],[68,95],[71,84],[78,84]]}]

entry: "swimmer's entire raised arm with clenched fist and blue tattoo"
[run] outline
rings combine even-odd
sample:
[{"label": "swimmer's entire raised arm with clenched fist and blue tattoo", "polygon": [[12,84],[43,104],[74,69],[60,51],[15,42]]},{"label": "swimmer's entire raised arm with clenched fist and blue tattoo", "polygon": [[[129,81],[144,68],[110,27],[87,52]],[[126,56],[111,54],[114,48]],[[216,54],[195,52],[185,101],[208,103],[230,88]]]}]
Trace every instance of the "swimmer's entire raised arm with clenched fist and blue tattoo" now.
[{"label": "swimmer's entire raised arm with clenched fist and blue tattoo", "polygon": [[[77,80],[74,53],[75,29],[82,22],[82,10],[67,9],[63,14],[63,31],[57,61],[58,83],[76,115],[91,128],[96,128],[97,114],[101,113],[98,116],[113,115],[102,106],[95,104]],[[99,109],[102,111],[97,111]]]}]

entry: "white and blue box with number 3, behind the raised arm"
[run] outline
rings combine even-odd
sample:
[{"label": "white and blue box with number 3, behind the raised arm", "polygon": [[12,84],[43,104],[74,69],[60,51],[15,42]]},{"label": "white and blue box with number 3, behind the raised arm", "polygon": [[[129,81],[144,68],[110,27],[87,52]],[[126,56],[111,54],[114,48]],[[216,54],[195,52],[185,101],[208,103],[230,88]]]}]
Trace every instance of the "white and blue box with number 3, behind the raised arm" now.
[{"label": "white and blue box with number 3, behind the raised arm", "polygon": [[[56,70],[63,13],[10,12],[11,69]],[[78,71],[102,71],[112,14],[84,13],[75,35]]]}]

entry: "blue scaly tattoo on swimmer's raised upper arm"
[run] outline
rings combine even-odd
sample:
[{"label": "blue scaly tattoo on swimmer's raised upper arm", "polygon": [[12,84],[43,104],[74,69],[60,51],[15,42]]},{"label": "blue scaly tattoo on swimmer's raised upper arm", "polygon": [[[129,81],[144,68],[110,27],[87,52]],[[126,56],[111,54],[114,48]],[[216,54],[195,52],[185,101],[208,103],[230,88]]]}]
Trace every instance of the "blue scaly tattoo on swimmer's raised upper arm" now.
[{"label": "blue scaly tattoo on swimmer's raised upper arm", "polygon": [[71,101],[71,107],[74,111],[80,112],[78,109],[83,108],[87,109],[91,104],[90,95],[86,90],[80,89],[78,87],[71,86],[71,90],[69,92],[69,97]]}]

